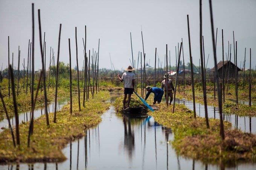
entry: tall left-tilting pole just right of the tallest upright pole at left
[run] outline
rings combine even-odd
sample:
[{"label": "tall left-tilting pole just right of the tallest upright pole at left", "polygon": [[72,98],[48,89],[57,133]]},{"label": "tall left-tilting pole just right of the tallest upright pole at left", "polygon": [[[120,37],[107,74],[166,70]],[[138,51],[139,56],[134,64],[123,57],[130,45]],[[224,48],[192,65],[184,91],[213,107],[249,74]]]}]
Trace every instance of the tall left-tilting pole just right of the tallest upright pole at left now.
[{"label": "tall left-tilting pole just right of the tallest upright pole at left", "polygon": [[[48,117],[48,110],[47,110],[47,92],[46,92],[46,74],[45,74],[45,67],[44,67],[44,54],[43,54],[43,47],[42,47],[42,36],[41,36],[41,18],[40,18],[40,9],[38,9],[38,23],[39,23],[39,38],[40,38],[40,49],[41,49],[41,59],[42,59],[42,71],[43,71],[43,83],[44,83],[44,110],[46,115],[46,123],[49,126],[49,117]],[[45,49],[45,48],[44,48]]]}]

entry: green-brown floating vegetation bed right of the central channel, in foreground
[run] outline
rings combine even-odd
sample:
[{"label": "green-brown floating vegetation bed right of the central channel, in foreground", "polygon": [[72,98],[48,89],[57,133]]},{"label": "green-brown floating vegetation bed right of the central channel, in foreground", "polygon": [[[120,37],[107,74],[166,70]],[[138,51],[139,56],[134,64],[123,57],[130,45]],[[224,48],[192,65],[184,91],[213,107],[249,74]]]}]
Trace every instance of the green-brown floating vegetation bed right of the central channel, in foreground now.
[{"label": "green-brown floating vegetation bed right of the central channel, in foreground", "polygon": [[231,123],[224,122],[226,138],[222,140],[218,119],[209,119],[208,129],[205,118],[194,119],[193,111],[182,104],[176,104],[175,113],[172,113],[172,105],[167,108],[161,104],[159,108],[149,114],[172,129],[172,146],[178,154],[211,163],[256,160],[256,135],[232,129]]}]

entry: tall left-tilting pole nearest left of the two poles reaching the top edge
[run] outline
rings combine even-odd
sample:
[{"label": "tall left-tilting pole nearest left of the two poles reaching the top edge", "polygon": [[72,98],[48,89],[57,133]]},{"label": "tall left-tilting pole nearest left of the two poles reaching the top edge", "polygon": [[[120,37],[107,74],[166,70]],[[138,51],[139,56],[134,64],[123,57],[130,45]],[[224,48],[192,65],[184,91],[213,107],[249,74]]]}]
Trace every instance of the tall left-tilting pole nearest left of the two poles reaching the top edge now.
[{"label": "tall left-tilting pole nearest left of the two poles reaching the top edge", "polygon": [[194,110],[194,117],[196,117],[196,112],[195,112],[195,82],[194,82],[193,60],[192,60],[191,44],[190,44],[189,15],[187,15],[187,30],[188,30],[188,36],[189,36],[189,57],[190,57],[191,82],[192,82],[192,94],[193,94],[193,110]]}]

